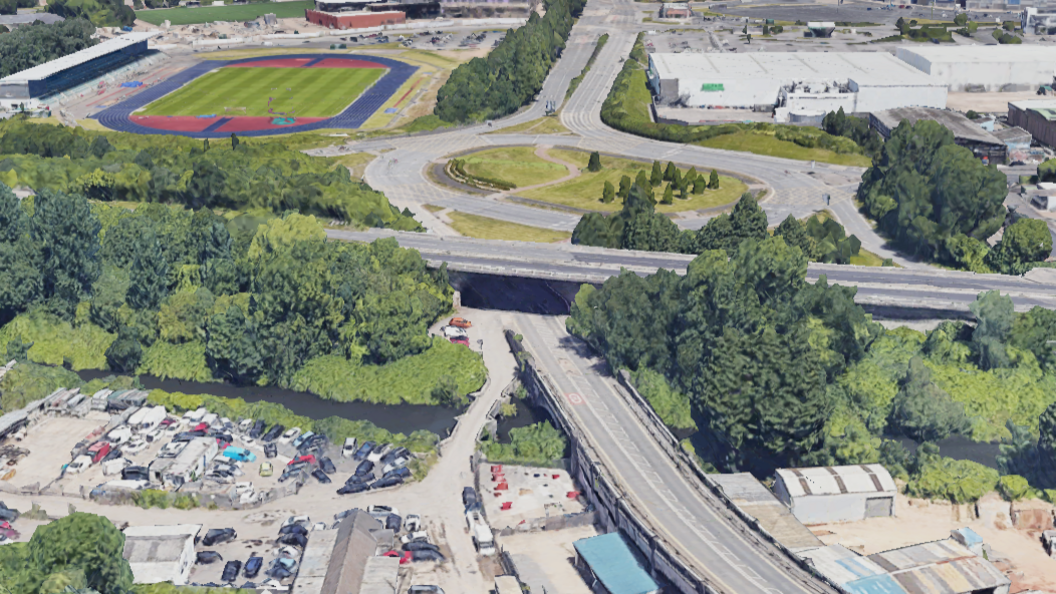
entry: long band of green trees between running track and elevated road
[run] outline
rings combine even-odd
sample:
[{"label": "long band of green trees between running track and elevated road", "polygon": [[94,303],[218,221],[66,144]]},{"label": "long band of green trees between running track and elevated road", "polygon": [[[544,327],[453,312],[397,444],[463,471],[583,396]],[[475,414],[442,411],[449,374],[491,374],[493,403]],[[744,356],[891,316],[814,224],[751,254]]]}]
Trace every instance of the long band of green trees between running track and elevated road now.
[{"label": "long band of green trees between running track and elevated road", "polygon": [[[416,230],[347,168],[274,142],[230,143],[88,132],[8,120],[0,124],[0,182],[100,201],[190,208],[294,210],[352,224]],[[135,229],[125,229],[129,237]],[[165,238],[158,238],[165,245]],[[129,254],[134,245],[125,245]]]}]

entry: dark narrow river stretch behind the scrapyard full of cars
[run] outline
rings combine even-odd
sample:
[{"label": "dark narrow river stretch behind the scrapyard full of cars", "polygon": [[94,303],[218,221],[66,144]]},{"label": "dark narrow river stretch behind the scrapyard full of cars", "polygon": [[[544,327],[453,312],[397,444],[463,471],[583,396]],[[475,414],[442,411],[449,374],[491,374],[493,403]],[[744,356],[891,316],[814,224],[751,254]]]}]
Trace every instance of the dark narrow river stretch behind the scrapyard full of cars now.
[{"label": "dark narrow river stretch behind the scrapyard full of cars", "polygon": [[[84,382],[113,375],[112,371],[83,369],[76,372]],[[139,383],[147,390],[184,392],[185,394],[212,394],[228,398],[242,398],[247,403],[266,401],[280,404],[295,414],[319,420],[340,416],[351,421],[370,421],[394,433],[411,433],[418,429],[447,437],[455,426],[455,416],[464,409],[431,405],[385,405],[363,402],[342,403],[321,398],[308,392],[285,390],[275,386],[234,386],[226,383],[184,382],[162,379],[153,375],[139,375]]]}]

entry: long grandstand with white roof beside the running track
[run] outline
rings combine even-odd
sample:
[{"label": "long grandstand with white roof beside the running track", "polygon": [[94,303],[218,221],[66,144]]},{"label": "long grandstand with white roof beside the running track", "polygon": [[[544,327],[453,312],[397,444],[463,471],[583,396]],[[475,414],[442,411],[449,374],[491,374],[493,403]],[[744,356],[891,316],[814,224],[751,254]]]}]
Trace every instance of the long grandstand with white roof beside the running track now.
[{"label": "long grandstand with white roof beside the running track", "polygon": [[0,78],[0,107],[30,105],[87,82],[120,68],[147,53],[147,40],[159,32],[126,33],[97,45],[86,48]]}]

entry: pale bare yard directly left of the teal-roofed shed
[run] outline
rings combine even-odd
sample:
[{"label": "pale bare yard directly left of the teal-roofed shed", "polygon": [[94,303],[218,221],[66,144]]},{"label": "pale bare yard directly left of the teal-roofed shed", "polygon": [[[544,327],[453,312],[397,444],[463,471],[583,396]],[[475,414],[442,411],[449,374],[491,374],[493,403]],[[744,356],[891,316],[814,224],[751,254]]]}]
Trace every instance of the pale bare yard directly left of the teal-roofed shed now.
[{"label": "pale bare yard directly left of the teal-roofed shed", "polygon": [[[522,569],[522,559],[527,558],[531,565],[538,568],[541,577],[557,588],[561,594],[590,594],[589,586],[573,565],[576,549],[572,543],[583,538],[598,536],[593,526],[565,528],[557,532],[538,532],[530,534],[514,534],[503,537],[503,550],[514,556],[517,569]],[[527,575],[522,576],[530,580]],[[532,592],[536,589],[532,588]],[[550,590],[548,589],[547,592]]]}]

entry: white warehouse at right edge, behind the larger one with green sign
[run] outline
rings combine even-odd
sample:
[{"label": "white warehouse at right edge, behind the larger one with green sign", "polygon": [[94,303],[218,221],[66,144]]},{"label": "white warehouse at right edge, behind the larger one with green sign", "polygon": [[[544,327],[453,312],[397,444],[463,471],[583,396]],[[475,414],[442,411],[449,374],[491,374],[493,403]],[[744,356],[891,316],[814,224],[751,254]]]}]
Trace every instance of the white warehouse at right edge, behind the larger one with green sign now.
[{"label": "white warehouse at right edge, behind the larger one with green sign", "polygon": [[900,60],[958,92],[1036,91],[1053,83],[1056,48],[1049,45],[899,47]]}]

